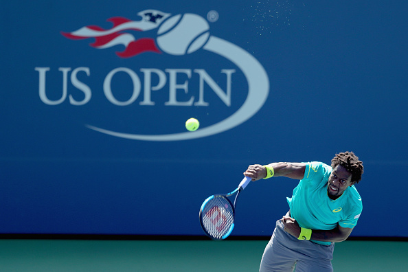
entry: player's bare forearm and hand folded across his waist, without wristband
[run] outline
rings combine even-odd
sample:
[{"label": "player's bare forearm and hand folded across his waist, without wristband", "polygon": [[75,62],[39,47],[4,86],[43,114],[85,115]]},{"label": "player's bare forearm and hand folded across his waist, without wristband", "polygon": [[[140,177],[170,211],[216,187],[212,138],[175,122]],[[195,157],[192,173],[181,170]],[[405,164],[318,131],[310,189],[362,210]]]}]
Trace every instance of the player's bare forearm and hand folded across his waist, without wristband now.
[{"label": "player's bare forearm and hand folded across his waist, without wristband", "polygon": [[[301,229],[295,219],[286,215],[282,218],[282,223],[284,224],[284,230],[288,232],[288,234],[291,234],[296,238],[299,237]],[[348,236],[350,236],[352,230],[353,229],[350,227],[341,227],[339,223],[337,223],[337,227],[334,229],[312,229],[312,236],[310,239],[321,242],[343,242]]]}]

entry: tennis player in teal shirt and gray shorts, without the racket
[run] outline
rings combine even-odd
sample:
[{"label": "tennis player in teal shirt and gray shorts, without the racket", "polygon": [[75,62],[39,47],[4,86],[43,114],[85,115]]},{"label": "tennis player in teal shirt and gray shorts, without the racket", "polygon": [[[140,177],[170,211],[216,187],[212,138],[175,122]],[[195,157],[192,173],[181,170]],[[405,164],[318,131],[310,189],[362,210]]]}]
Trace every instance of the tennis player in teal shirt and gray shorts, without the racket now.
[{"label": "tennis player in teal shirt and gray shorts, without the racket", "polygon": [[363,209],[354,187],[363,163],[353,152],[341,152],[331,166],[308,163],[251,165],[244,172],[252,181],[270,177],[300,179],[287,198],[289,211],[277,220],[264,250],[260,271],[333,271],[335,242],[350,236]]}]

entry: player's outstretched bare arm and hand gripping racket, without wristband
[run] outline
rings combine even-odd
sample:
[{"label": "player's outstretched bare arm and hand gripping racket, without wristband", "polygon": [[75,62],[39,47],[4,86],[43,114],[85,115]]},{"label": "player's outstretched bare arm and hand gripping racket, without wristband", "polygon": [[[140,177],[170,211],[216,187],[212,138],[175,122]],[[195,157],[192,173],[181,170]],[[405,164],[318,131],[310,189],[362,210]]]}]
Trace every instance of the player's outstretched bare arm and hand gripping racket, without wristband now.
[{"label": "player's outstretched bare arm and hand gripping racket, without wristband", "polygon": [[[288,177],[291,179],[303,179],[304,171],[306,169],[306,163],[269,163],[269,167],[273,168],[275,174],[274,177]],[[244,175],[252,178],[252,181],[258,181],[267,177],[267,168],[260,164],[253,164],[248,166],[248,169],[244,172]]]}]

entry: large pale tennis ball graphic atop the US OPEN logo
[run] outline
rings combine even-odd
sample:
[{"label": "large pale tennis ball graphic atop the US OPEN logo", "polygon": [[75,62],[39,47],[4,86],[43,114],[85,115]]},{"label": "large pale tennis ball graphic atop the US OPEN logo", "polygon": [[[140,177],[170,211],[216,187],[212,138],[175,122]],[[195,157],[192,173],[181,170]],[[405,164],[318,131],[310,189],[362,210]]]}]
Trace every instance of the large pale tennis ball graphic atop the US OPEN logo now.
[{"label": "large pale tennis ball graphic atop the US OPEN logo", "polygon": [[195,52],[207,43],[209,25],[196,14],[178,14],[170,17],[157,31],[157,45],[171,55]]}]

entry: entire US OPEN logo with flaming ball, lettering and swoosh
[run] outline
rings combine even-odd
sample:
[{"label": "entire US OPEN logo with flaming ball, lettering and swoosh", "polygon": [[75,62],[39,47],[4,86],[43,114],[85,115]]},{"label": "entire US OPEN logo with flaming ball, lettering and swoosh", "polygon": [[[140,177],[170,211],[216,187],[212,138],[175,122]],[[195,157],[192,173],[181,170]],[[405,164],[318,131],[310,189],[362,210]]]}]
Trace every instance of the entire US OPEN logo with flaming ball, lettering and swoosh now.
[{"label": "entire US OPEN logo with flaming ball, lettering and swoosh", "polygon": [[[113,23],[113,27],[110,29],[104,29],[98,26],[86,26],[79,30],[73,32],[61,32],[63,36],[71,40],[82,40],[87,38],[94,38],[95,42],[91,43],[91,47],[96,49],[107,49],[110,47],[115,47],[116,45],[123,45],[124,50],[122,52],[116,52],[116,55],[120,58],[137,58],[139,54],[150,52],[152,54],[167,54],[177,57],[193,56],[194,52],[199,50],[206,50],[212,54],[216,54],[226,60],[229,60],[234,64],[240,71],[242,71],[248,84],[248,94],[243,102],[242,106],[216,124],[203,127],[198,131],[194,132],[181,132],[172,134],[161,134],[161,135],[146,135],[146,134],[133,134],[126,133],[124,131],[113,131],[108,128],[103,128],[99,126],[94,126],[93,124],[86,124],[87,128],[100,133],[105,133],[106,135],[111,135],[114,137],[121,137],[126,139],[144,140],[144,141],[179,141],[186,139],[195,139],[200,137],[207,137],[210,135],[216,135],[223,131],[228,131],[243,122],[249,120],[253,115],[255,115],[264,105],[269,94],[269,78],[267,72],[264,70],[262,65],[249,54],[245,49],[225,41],[222,38],[212,36],[209,23],[203,17],[197,14],[177,14],[172,15],[159,10],[144,10],[138,13],[141,16],[140,21],[131,21],[123,17],[113,17],[108,19]],[[218,14],[216,14],[218,16]],[[214,20],[214,16],[208,16],[208,18]],[[156,31],[154,37],[143,36],[144,32]],[[135,35],[134,33],[138,35]],[[141,34],[141,35],[139,35]],[[50,70],[49,67],[36,67],[38,71],[38,90],[41,100],[45,104],[57,105],[65,101],[67,98],[67,80],[68,73],[71,68],[60,67],[59,70],[63,73],[63,95],[58,100],[51,100],[47,97],[47,90],[45,89],[46,75],[47,71]],[[163,87],[166,82],[166,75],[160,69],[141,69],[145,76],[144,82],[144,101],[140,104],[153,104],[150,100],[150,94],[148,91],[157,90]],[[166,69],[166,73],[169,74],[169,84],[173,82],[174,86],[170,86],[170,98],[166,105],[179,106],[181,102],[177,102],[175,99],[175,89],[181,88],[183,86],[174,84],[174,80],[171,80],[177,76],[177,69]],[[192,69],[192,71],[183,71],[190,76],[191,73],[196,73],[199,76],[200,82],[206,82],[212,85],[213,90],[216,92],[218,97],[220,97],[225,104],[228,104],[231,95],[231,76],[235,73],[234,69],[223,69],[222,73],[225,73],[227,78],[227,91],[223,93],[219,87],[216,86],[214,80],[208,75],[204,69]],[[71,71],[71,83],[84,93],[84,99],[82,101],[74,100],[71,95],[69,95],[69,102],[75,105],[83,105],[89,102],[91,99],[91,89],[81,82],[77,78],[77,73],[86,73],[89,76],[88,67],[78,67]],[[127,73],[133,82],[133,95],[127,101],[119,101],[113,95],[111,89],[111,80],[116,73]],[[159,83],[156,86],[149,86],[149,80],[146,80],[148,76],[155,74],[159,78]],[[202,85],[202,84],[201,84]],[[149,89],[150,88],[150,89]],[[104,95],[112,104],[117,106],[126,106],[131,104],[139,97],[141,92],[141,82],[139,76],[132,70],[126,67],[118,67],[112,69],[104,78]],[[148,90],[146,92],[146,90]],[[200,90],[202,93],[202,90]],[[188,103],[193,103],[189,101]],[[198,101],[194,102],[194,105],[205,105],[206,102],[200,96]]]}]

